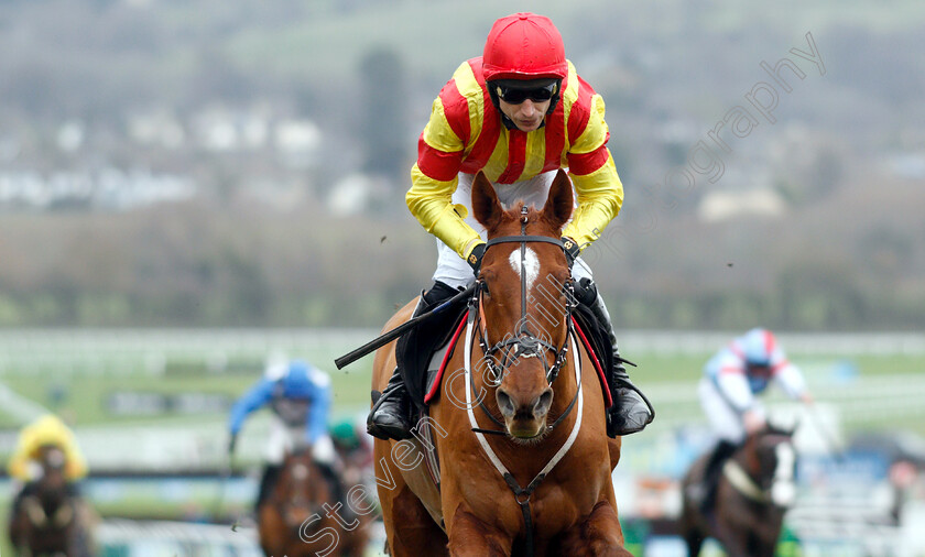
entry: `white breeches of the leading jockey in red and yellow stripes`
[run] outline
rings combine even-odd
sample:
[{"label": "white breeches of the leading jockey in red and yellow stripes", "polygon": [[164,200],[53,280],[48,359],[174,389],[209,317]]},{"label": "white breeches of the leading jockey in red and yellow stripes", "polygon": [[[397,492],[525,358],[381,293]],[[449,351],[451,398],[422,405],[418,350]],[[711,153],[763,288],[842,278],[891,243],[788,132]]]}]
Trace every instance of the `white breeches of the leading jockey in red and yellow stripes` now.
[{"label": "white breeches of the leading jockey in red and yellow stripes", "polygon": [[[549,186],[553,184],[557,171],[549,171],[538,174],[531,179],[514,182],[513,184],[494,184],[494,192],[498,200],[505,209],[511,208],[516,201],[523,200],[535,209],[542,209],[549,196]],[[453,194],[454,205],[466,207],[468,215],[465,218],[467,225],[472,227],[482,238],[486,239],[486,230],[472,216],[472,174],[459,174],[459,185]],[[591,270],[585,264],[581,258],[575,262],[572,270],[573,277],[591,278]],[[439,281],[453,288],[465,288],[475,281],[472,267],[459,256],[453,249],[443,241],[437,240],[437,270],[434,271],[434,281]]]}]

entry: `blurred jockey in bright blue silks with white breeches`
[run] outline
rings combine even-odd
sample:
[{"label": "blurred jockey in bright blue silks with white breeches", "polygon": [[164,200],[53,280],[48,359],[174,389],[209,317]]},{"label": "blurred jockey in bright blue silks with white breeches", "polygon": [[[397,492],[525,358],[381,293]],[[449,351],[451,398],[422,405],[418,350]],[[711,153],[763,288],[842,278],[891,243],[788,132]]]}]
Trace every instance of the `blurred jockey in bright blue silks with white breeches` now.
[{"label": "blurred jockey in bright blue silks with white breeches", "polygon": [[[233,454],[238,434],[248,415],[270,405],[274,419],[266,439],[266,468],[260,481],[257,499],[259,507],[273,488],[286,454],[309,446],[315,461],[329,479],[334,473],[334,444],[327,434],[327,418],[331,404],[330,376],[300,360],[273,362],[263,378],[231,407],[228,418],[229,454]],[[339,482],[335,480],[335,485]]]}]

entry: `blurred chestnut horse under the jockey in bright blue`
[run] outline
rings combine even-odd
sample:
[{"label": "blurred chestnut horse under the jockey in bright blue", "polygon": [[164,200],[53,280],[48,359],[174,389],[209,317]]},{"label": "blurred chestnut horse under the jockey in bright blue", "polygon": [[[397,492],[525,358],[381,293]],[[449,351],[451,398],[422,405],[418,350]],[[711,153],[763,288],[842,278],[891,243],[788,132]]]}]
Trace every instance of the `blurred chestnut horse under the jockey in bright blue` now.
[{"label": "blurred chestnut horse under the jockey in bright blue", "polygon": [[280,478],[258,510],[260,547],[269,556],[361,556],[368,520],[348,515],[331,480],[308,447],[289,454]]}]

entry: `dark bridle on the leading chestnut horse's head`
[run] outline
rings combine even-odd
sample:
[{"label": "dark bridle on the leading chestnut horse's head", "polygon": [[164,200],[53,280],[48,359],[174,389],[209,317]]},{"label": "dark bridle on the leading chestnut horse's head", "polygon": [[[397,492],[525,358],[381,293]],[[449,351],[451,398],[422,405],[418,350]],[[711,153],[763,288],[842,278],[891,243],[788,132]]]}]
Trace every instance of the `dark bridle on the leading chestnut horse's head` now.
[{"label": "dark bridle on the leading chestnut horse's head", "polygon": [[[558,372],[562,370],[562,367],[565,364],[566,356],[568,353],[567,335],[566,338],[563,340],[562,346],[555,347],[551,342],[534,335],[527,327],[526,244],[543,242],[552,243],[563,250],[564,248],[561,239],[549,238],[546,236],[529,236],[526,233],[526,211],[527,208],[526,206],[524,206],[521,209],[520,236],[502,236],[499,238],[492,238],[486,243],[486,251],[488,251],[488,249],[492,245],[498,245],[499,243],[520,243],[521,255],[521,318],[520,321],[518,321],[516,330],[514,331],[513,336],[505,335],[503,339],[489,347],[482,327],[479,326],[478,329],[479,346],[481,347],[481,350],[486,356],[486,365],[488,367],[489,371],[491,371],[491,383],[493,384],[493,386],[498,386],[501,384],[501,380],[504,378],[504,370],[510,368],[519,358],[537,358],[540,361],[542,361],[543,368],[545,369],[546,382],[552,385],[558,376]],[[563,287],[566,291],[565,320],[566,323],[568,323],[568,316],[572,314],[572,310],[574,309],[576,303],[575,287],[570,278],[566,281]],[[485,292],[485,282],[479,280],[479,286],[476,290],[476,296],[479,299],[479,306],[481,306],[481,294],[482,292]],[[546,359],[547,350],[552,350],[555,354],[555,361],[552,365],[549,365]],[[499,359],[500,363],[498,361]]]}]

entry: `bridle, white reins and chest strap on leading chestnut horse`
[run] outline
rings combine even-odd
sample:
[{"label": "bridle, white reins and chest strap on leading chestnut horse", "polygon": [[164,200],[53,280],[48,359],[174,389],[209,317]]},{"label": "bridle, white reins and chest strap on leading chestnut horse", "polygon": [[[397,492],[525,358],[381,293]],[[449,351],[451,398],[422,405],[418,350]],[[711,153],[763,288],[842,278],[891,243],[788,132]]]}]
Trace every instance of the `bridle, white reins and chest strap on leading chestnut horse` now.
[{"label": "bridle, white reins and chest strap on leading chestnut horse", "polygon": [[[546,242],[553,243],[562,248],[562,241],[556,240],[553,238],[548,238],[545,236],[529,236],[525,232],[526,229],[526,207],[522,209],[521,212],[522,220],[521,220],[521,234],[520,236],[505,236],[500,238],[494,238],[488,241],[486,245],[486,250],[492,245],[497,245],[499,243],[509,243],[509,242],[519,242],[520,245],[520,253],[521,253],[521,320],[518,327],[516,337],[514,338],[505,338],[504,340],[498,342],[492,347],[488,347],[488,342],[486,341],[485,334],[481,327],[481,319],[483,316],[479,317],[480,323],[479,326],[476,326],[477,314],[480,315],[479,309],[481,309],[481,292],[482,288],[476,288],[476,294],[470,299],[469,304],[469,316],[467,318],[466,324],[466,348],[464,352],[464,370],[466,373],[466,412],[469,417],[469,425],[471,426],[472,433],[476,435],[476,439],[479,441],[479,445],[485,451],[488,459],[491,461],[492,466],[498,473],[504,479],[504,482],[511,489],[514,494],[514,500],[516,501],[518,505],[521,509],[521,514],[523,515],[524,522],[524,538],[526,544],[526,555],[533,556],[534,548],[533,548],[533,518],[530,511],[530,499],[533,495],[533,492],[540,485],[540,483],[546,478],[546,476],[559,463],[559,461],[565,457],[572,446],[575,444],[575,440],[578,438],[578,433],[581,429],[581,418],[584,415],[584,407],[585,407],[585,400],[581,396],[581,359],[575,358],[575,381],[576,381],[576,390],[575,396],[572,398],[572,402],[568,404],[568,407],[563,412],[563,414],[552,424],[548,425],[543,433],[547,433],[553,430],[557,427],[570,413],[572,409],[576,407],[577,403],[577,415],[575,419],[575,424],[572,426],[572,432],[566,438],[565,443],[562,447],[559,447],[558,451],[546,462],[546,466],[537,473],[533,480],[526,485],[526,488],[522,488],[514,476],[508,470],[508,468],[501,462],[498,458],[498,455],[491,448],[486,439],[485,434],[494,434],[494,435],[507,435],[503,430],[492,430],[492,429],[482,429],[479,427],[478,421],[476,419],[476,415],[472,412],[472,408],[476,404],[478,404],[482,412],[498,426],[505,427],[498,418],[491,415],[488,408],[485,406],[481,398],[478,400],[476,404],[472,403],[472,396],[475,394],[475,379],[472,373],[472,339],[476,332],[479,336],[479,346],[485,354],[483,361],[487,363],[489,370],[492,373],[491,383],[494,386],[501,384],[501,380],[503,379],[504,370],[513,363],[519,357],[523,356],[525,358],[538,358],[543,360],[543,365],[546,370],[546,381],[552,385],[552,383],[558,376],[558,372],[566,363],[566,356],[568,353],[568,342],[572,339],[573,345],[577,346],[575,340],[575,331],[572,328],[572,321],[568,319],[568,316],[572,313],[572,305],[566,305],[566,315],[565,319],[567,323],[567,334],[566,338],[563,341],[563,346],[561,348],[556,348],[549,342],[546,342],[536,336],[534,336],[526,327],[526,272],[525,272],[525,259],[526,259],[526,243],[527,242]],[[568,287],[572,287],[572,283],[568,283]],[[569,298],[569,301],[575,299],[574,296]],[[475,330],[474,330],[475,329]],[[513,347],[513,357],[509,353],[509,348]],[[546,350],[554,350],[556,354],[555,362],[552,367],[548,365],[548,362],[545,358]],[[494,362],[494,357],[497,352],[501,352],[504,354],[502,360],[501,367],[499,367]],[[576,354],[577,354],[576,350]]]}]

